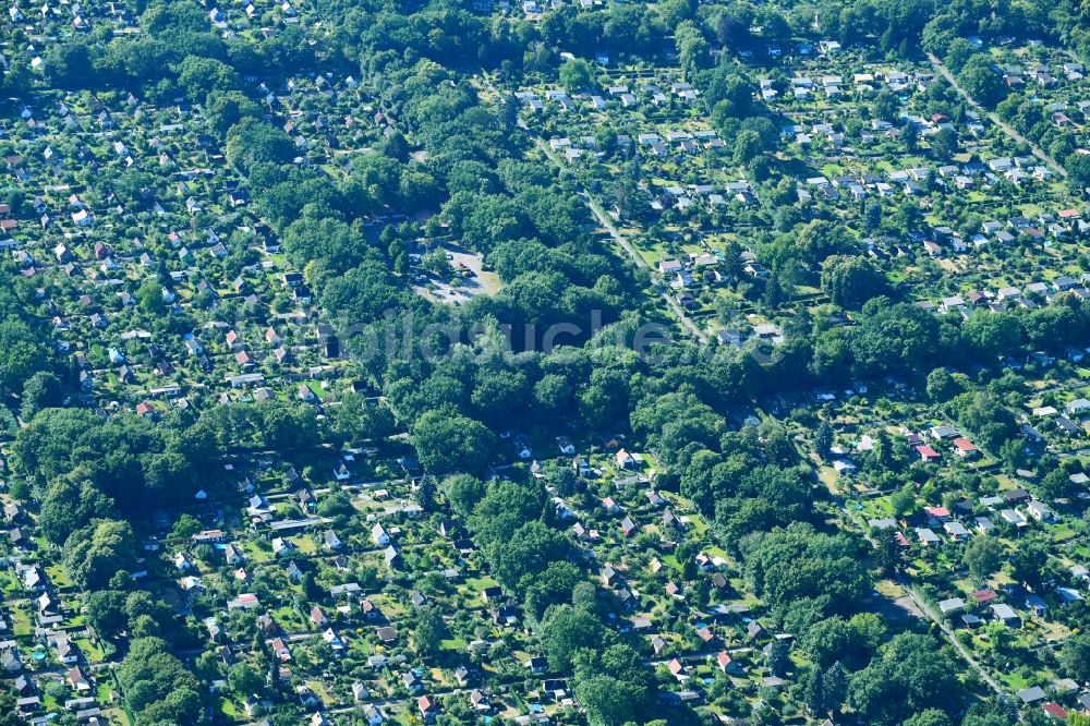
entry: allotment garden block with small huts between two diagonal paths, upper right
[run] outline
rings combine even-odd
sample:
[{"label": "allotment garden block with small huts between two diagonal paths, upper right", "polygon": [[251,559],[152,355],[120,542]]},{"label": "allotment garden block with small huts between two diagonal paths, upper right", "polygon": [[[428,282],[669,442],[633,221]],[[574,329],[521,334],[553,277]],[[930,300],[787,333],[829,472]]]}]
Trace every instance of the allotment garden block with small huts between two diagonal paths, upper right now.
[{"label": "allotment garden block with small huts between two diagonal paths, upper right", "polygon": [[[737,70],[755,89],[750,110],[763,116],[727,142],[717,131],[722,101],[702,97],[676,66],[569,60],[560,83],[513,92],[548,158],[710,328],[738,327],[746,299],[764,297],[773,308],[798,299],[791,292],[821,301],[812,265],[809,275],[771,275],[779,251],[770,228],[786,230],[814,209],[850,230],[815,240],[829,247],[818,254],[865,253],[923,303],[1076,271],[1063,256],[1079,257],[1087,223],[1064,178],[980,109],[958,104],[925,58],[875,62],[867,49],[827,43],[770,45],[762,56]],[[1077,87],[1078,64],[1066,65]],[[739,340],[735,329],[723,335]]]}]

